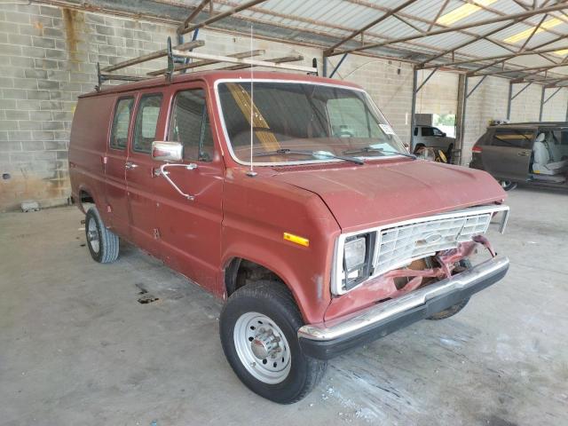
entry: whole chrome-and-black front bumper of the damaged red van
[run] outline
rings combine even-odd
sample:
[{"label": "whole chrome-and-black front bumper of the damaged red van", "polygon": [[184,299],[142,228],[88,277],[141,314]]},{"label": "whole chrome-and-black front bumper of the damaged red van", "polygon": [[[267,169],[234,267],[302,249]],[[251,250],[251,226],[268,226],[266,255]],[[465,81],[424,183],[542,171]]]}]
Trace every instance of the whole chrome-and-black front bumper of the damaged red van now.
[{"label": "whole chrome-and-black front bumper of the damaged red van", "polygon": [[458,304],[461,300],[501,280],[509,258],[495,256],[467,271],[418,288],[405,296],[375,304],[346,318],[310,324],[298,330],[304,353],[331,359],[355,346],[369,343]]}]

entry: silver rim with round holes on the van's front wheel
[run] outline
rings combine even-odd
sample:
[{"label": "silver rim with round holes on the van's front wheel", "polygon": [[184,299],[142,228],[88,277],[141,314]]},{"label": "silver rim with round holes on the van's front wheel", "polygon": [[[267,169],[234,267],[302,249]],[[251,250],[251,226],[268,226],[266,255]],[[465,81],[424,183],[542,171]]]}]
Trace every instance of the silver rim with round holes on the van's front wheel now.
[{"label": "silver rim with round holes on the van's front wheel", "polygon": [[235,322],[233,340],[242,365],[257,380],[276,384],[288,377],[290,347],[272,319],[258,312],[243,313]]}]

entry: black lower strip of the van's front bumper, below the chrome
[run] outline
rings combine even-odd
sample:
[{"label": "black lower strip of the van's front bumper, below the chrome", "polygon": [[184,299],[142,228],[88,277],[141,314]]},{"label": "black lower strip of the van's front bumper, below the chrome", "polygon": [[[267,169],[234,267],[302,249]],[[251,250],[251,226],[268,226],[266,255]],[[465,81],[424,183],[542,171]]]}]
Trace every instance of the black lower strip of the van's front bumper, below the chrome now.
[{"label": "black lower strip of the van's front bumper, below the chrome", "polygon": [[334,340],[317,341],[300,337],[300,346],[304,354],[316,359],[332,359],[343,352],[350,350],[362,344],[374,342],[385,335],[397,331],[400,328],[407,327],[420,319],[425,319],[431,315],[445,311],[450,306],[458,304],[461,300],[469,297],[478,291],[483,290],[501,280],[507,271],[509,265],[500,272],[494,273],[485,277],[483,280],[477,281],[475,284],[470,285],[468,288],[461,288],[454,290],[444,296],[438,296],[430,299],[426,304],[417,306],[412,310],[401,312],[395,317],[385,319],[381,322],[373,324],[370,327],[363,328],[351,335],[343,335]]}]

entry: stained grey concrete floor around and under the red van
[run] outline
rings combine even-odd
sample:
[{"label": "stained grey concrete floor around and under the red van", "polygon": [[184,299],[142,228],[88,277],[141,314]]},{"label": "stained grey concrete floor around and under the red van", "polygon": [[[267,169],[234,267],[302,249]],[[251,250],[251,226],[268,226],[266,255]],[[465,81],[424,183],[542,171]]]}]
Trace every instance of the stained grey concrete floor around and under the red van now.
[{"label": "stained grey concrete floor around and under the red van", "polygon": [[293,406],[233,375],[200,288],[136,248],[91,261],[75,208],[4,214],[0,424],[568,424],[568,195],[519,188],[509,205],[490,233],[505,280],[332,360]]}]

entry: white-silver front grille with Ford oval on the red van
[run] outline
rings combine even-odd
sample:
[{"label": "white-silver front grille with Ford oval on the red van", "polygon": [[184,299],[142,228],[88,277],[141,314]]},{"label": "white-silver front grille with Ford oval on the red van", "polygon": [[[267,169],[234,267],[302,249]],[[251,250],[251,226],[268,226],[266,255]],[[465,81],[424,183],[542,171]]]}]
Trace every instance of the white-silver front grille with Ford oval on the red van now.
[{"label": "white-silver front grille with Ford oval on the red van", "polygon": [[379,231],[373,275],[410,264],[413,259],[439,250],[456,248],[460,242],[485,233],[491,213],[422,220]]}]

